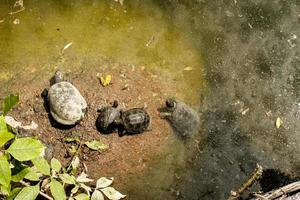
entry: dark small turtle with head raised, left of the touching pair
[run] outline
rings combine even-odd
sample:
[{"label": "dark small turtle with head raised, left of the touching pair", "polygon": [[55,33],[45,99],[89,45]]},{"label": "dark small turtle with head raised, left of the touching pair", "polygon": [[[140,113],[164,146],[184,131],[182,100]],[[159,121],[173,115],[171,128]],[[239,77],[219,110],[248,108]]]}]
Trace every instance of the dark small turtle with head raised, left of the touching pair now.
[{"label": "dark small turtle with head raised, left of the touching pair", "polygon": [[96,127],[100,132],[111,133],[116,129],[116,120],[120,118],[118,101],[114,101],[112,106],[106,106],[98,110],[99,115],[96,120]]}]

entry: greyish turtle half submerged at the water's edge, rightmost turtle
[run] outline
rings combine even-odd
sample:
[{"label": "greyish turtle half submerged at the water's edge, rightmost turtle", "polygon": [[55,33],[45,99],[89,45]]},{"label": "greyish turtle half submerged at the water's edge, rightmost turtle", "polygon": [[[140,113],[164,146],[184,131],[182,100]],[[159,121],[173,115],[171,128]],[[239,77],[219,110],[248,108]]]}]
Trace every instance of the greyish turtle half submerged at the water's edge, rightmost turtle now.
[{"label": "greyish turtle half submerged at the water's edge, rightmost turtle", "polygon": [[161,111],[160,116],[167,119],[175,132],[181,137],[186,137],[199,128],[200,119],[198,113],[175,98],[166,100],[166,108]]}]

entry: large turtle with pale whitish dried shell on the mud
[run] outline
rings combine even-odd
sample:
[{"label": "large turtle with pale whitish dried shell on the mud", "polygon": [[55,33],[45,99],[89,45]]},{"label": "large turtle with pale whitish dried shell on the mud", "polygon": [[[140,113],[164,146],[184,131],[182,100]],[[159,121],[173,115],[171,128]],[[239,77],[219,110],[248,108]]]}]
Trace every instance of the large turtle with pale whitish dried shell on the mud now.
[{"label": "large turtle with pale whitish dried shell on the mud", "polygon": [[50,89],[45,89],[42,93],[51,116],[59,124],[75,125],[87,111],[85,99],[72,83],[64,80],[60,70],[55,72],[51,81]]}]

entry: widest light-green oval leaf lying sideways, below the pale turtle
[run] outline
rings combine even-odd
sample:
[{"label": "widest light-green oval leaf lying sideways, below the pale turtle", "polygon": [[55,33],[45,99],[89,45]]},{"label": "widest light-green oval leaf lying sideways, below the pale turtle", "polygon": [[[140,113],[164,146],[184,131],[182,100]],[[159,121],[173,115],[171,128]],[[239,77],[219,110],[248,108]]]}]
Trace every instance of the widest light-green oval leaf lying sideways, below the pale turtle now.
[{"label": "widest light-green oval leaf lying sideways, below the pale turtle", "polygon": [[41,156],[44,149],[44,145],[39,140],[18,138],[10,145],[7,152],[18,161],[27,161]]}]

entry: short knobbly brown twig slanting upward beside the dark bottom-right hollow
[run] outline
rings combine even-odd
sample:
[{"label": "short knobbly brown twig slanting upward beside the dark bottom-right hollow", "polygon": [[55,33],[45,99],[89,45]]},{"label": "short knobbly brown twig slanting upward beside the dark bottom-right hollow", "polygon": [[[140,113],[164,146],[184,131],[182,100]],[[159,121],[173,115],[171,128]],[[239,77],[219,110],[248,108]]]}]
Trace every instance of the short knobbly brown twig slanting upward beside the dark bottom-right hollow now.
[{"label": "short knobbly brown twig slanting upward beside the dark bottom-right hollow", "polygon": [[262,166],[257,164],[255,171],[253,172],[252,176],[247,180],[246,183],[243,184],[243,186],[237,191],[231,191],[230,196],[227,200],[236,200],[238,199],[245,190],[247,190],[249,187],[253,185],[253,183],[262,175]]}]

